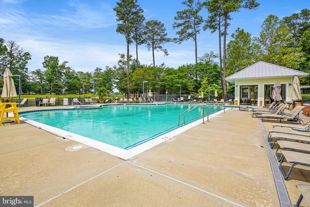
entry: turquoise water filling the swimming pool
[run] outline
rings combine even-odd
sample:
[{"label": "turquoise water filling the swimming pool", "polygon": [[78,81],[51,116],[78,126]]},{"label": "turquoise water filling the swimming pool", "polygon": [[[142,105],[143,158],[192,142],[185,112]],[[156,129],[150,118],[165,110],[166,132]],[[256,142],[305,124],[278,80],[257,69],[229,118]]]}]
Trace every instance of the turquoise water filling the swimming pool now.
[{"label": "turquoise water filling the swimming pool", "polygon": [[[191,105],[109,105],[92,110],[29,112],[21,116],[102,143],[129,149],[177,128],[179,115]],[[220,110],[219,106],[212,107],[210,114]],[[207,115],[207,107],[204,107],[204,114]],[[202,107],[186,114],[185,121],[187,124],[199,118],[202,118]],[[180,123],[183,124],[183,117]]]}]

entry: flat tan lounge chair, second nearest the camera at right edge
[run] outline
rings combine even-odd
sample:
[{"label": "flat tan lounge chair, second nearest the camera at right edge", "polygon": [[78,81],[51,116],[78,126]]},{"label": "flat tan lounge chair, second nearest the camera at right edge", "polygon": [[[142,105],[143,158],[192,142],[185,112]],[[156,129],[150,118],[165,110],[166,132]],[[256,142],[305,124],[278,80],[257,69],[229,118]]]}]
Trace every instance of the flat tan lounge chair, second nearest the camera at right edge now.
[{"label": "flat tan lounge chair, second nearest the camera at right edge", "polygon": [[[282,151],[282,155],[283,157],[280,160],[279,169],[284,179],[287,179],[289,177],[294,166],[296,165],[304,165],[304,166],[310,167],[310,154],[284,150]],[[293,163],[289,171],[287,172],[287,174],[284,172],[283,167],[282,167],[284,159],[286,159],[287,163]]]}]

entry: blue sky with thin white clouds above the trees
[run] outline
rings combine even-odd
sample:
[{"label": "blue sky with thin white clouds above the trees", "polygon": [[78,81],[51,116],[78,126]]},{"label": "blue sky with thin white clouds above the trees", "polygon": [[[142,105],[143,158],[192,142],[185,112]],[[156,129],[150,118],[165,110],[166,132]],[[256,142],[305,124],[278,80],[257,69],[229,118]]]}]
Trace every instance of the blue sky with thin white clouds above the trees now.
[{"label": "blue sky with thin white clouds above the trees", "polygon": [[[169,37],[176,37],[172,30],[177,11],[186,9],[183,0],[138,0],[146,20],[158,20],[165,24]],[[232,15],[229,36],[238,27],[257,36],[265,18],[276,15],[291,16],[310,8],[309,0],[257,0],[258,10],[241,10]],[[44,69],[44,57],[57,56],[60,64],[67,61],[76,71],[93,72],[96,67],[105,69],[117,64],[119,53],[126,52],[124,35],[116,33],[117,21],[113,8],[116,0],[0,0],[0,38],[15,41],[30,52],[28,68]],[[207,17],[202,10],[201,16]],[[169,56],[155,52],[155,64],[165,63],[177,68],[195,63],[194,43],[181,45],[169,43],[164,46]],[[138,48],[141,64],[153,63],[152,51],[145,45]],[[218,53],[217,34],[201,31],[198,36],[198,56],[205,52]],[[135,46],[130,47],[135,57]]]}]

